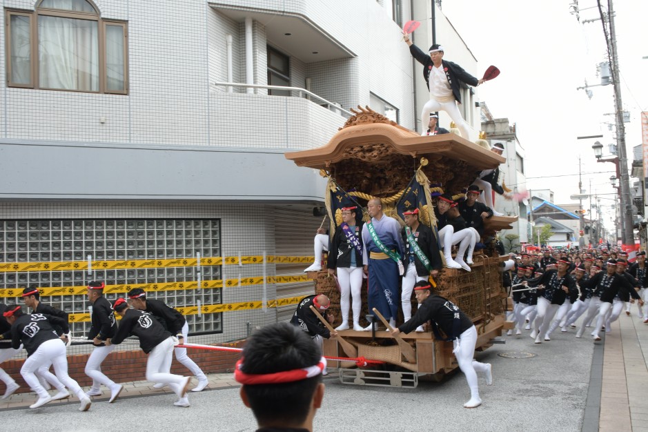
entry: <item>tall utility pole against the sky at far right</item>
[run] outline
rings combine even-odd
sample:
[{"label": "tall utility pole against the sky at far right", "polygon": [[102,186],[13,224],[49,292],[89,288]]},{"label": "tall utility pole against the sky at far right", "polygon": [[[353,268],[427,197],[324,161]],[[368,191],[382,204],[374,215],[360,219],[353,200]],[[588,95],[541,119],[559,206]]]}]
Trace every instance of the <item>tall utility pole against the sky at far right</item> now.
[{"label": "tall utility pole against the sky at far right", "polygon": [[634,235],[632,233],[633,226],[633,217],[632,217],[632,206],[630,200],[630,179],[628,175],[628,158],[627,150],[625,148],[625,124],[623,123],[623,105],[621,102],[621,85],[619,79],[619,64],[618,64],[618,55],[616,50],[616,30],[614,27],[614,10],[613,10],[613,1],[607,0],[607,9],[608,9],[608,22],[610,34],[607,37],[607,30],[605,28],[605,19],[603,18],[603,12],[600,5],[601,0],[598,0],[598,9],[601,14],[601,22],[603,25],[603,32],[606,33],[605,40],[607,41],[607,54],[610,61],[610,72],[611,79],[614,85],[614,102],[616,109],[616,140],[617,140],[617,149],[619,155],[619,170],[621,174],[620,181],[620,192],[621,192],[621,202],[619,213],[621,213],[621,240],[623,244],[633,245],[634,244]]}]

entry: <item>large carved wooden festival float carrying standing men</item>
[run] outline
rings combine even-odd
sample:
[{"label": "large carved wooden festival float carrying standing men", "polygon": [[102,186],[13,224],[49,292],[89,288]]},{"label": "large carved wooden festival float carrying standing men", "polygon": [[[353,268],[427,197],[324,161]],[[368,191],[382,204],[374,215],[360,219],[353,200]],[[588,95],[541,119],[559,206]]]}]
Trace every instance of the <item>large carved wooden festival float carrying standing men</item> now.
[{"label": "large carved wooden festival float carrying standing men", "polygon": [[[335,198],[330,198],[331,192],[346,193],[363,208],[371,197],[380,197],[384,213],[404,224],[395,205],[402,201],[411,189],[410,182],[415,179],[427,198],[416,200],[420,221],[435,225],[431,199],[435,192],[442,189],[445,193],[459,195],[472,183],[479,170],[496,168],[505,161],[500,155],[454,133],[420,136],[369,107],[358,106],[358,110],[353,112],[355,115],[326,146],[286,154],[286,158],[298,166],[318,169],[328,177],[326,208],[331,222],[330,233],[334,233],[335,226],[341,223],[340,210],[335,211]],[[510,224],[515,219],[495,216],[487,219],[487,235],[511,228]],[[365,214],[364,221],[368,220],[369,216]],[[501,272],[501,263],[506,259],[499,256],[493,244],[488,244],[481,251],[475,251],[471,272],[444,268],[435,278],[438,293],[459,306],[475,323],[478,351],[497,342],[495,337],[502,335],[502,329],[509,328],[504,317],[508,296],[502,288]],[[328,276],[324,267],[322,271],[308,274],[314,279],[315,292],[331,298],[329,311],[337,313],[333,322],[333,326],[337,326],[341,322],[340,293],[335,279]],[[366,279],[362,295],[361,317],[366,323],[364,317],[369,313]],[[402,323],[402,316],[396,321]],[[440,380],[458,369],[452,342],[435,340],[431,331],[412,332],[402,335],[402,340],[397,341],[384,330],[384,326],[382,328],[373,332],[340,331],[337,338],[324,341],[326,356],[364,357],[382,362],[364,367],[357,367],[354,362],[340,362],[340,380],[343,383],[416,386],[421,378]]]}]

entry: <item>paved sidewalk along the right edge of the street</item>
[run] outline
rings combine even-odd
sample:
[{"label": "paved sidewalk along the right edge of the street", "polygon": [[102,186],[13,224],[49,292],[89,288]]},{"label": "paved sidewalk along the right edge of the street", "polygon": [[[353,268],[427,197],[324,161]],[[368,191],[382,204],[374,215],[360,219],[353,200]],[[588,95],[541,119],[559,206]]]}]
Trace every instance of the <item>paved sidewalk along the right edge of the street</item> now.
[{"label": "paved sidewalk along the right edge of the street", "polygon": [[635,313],[622,313],[605,335],[601,432],[648,432],[648,325]]}]

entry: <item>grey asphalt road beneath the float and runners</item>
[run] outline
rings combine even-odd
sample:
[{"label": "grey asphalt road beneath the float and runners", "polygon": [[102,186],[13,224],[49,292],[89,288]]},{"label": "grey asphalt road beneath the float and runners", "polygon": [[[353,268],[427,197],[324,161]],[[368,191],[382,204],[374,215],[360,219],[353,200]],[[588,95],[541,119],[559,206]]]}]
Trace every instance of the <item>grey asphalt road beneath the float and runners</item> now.
[{"label": "grey asphalt road beneath the float and runners", "polygon": [[[580,431],[589,386],[593,344],[574,332],[554,333],[540,345],[525,332],[506,337],[483,353],[493,364],[493,385],[480,377],[482,406],[464,409],[469,389],[462,373],[444,382],[420,382],[416,389],[351,386],[325,378],[326,394],[315,417],[316,431]],[[535,357],[511,359],[500,353]],[[78,402],[3,413],[5,429],[24,431],[254,431],[239,389],[190,395],[190,408],[173,406],[175,395],[96,402],[77,411]]]}]

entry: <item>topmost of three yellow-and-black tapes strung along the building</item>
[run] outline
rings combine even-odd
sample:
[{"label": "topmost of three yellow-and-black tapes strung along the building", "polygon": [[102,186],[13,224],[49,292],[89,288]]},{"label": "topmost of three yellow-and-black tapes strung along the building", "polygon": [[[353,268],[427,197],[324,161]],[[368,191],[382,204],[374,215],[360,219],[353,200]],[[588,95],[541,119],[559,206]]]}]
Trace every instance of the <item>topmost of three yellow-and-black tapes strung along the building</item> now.
[{"label": "topmost of three yellow-and-black tapes strung along the building", "polygon": [[[236,264],[308,264],[313,256],[292,255],[250,255],[244,257],[201,257],[201,266],[230,266]],[[195,267],[197,258],[174,259],[116,259],[112,261],[92,261],[94,270],[122,270],[125,268]],[[0,273],[29,271],[75,271],[88,270],[87,261],[52,262],[0,262]]]}]

